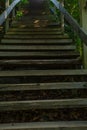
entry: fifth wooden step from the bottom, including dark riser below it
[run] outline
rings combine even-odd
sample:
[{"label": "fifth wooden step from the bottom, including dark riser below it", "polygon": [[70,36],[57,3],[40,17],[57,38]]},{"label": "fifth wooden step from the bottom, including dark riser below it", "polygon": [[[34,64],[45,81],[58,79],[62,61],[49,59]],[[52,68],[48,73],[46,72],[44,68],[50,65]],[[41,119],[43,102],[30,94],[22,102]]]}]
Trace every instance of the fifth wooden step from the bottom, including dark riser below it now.
[{"label": "fifth wooden step from the bottom, including dark riser below it", "polygon": [[[28,57],[27,57],[28,58]],[[7,59],[7,60],[6,60]],[[3,60],[0,60],[1,70],[22,70],[22,69],[80,69],[82,66],[81,59],[17,59],[10,57],[4,57]]]}]

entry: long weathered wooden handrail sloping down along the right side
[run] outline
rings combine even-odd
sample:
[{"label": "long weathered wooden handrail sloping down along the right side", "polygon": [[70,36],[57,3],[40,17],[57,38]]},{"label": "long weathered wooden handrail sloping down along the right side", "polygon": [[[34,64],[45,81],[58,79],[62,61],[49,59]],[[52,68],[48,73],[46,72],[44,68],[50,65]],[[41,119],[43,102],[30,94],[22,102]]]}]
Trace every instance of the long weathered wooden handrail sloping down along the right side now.
[{"label": "long weathered wooden handrail sloping down along the right side", "polygon": [[67,12],[67,10],[57,0],[50,0],[57,9],[64,15],[64,18],[72,26],[75,32],[79,35],[81,40],[87,45],[87,33],[80,27],[77,21]]}]

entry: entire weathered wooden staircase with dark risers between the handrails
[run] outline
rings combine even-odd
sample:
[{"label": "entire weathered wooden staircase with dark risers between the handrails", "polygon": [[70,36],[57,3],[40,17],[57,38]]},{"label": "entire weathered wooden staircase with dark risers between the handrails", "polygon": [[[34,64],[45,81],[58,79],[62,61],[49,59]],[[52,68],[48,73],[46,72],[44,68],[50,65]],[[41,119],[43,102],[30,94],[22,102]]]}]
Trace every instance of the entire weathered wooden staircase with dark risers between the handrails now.
[{"label": "entire weathered wooden staircase with dark risers between the handrails", "polygon": [[0,43],[0,130],[87,130],[81,67],[59,26],[13,24]]}]

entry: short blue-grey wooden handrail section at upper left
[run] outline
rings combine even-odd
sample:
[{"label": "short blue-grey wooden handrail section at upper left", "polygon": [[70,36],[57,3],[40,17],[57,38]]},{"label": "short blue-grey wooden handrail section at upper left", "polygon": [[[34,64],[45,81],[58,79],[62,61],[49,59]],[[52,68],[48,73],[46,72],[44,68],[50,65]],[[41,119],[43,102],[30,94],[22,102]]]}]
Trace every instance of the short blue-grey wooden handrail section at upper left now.
[{"label": "short blue-grey wooden handrail section at upper left", "polygon": [[11,5],[0,15],[0,25],[2,25],[14,7],[20,2],[21,0],[14,0]]}]

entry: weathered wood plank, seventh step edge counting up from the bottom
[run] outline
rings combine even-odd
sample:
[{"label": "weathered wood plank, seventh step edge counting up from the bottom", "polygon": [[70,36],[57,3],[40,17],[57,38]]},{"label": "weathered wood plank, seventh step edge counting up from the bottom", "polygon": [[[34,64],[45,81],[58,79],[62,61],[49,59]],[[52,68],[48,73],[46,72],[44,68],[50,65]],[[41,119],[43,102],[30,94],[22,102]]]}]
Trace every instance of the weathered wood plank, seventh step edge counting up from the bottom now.
[{"label": "weathered wood plank, seventh step edge counting up from the bottom", "polygon": [[0,45],[3,50],[75,50],[75,45]]}]

